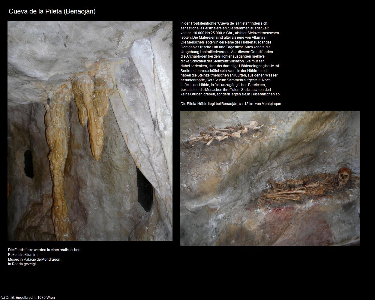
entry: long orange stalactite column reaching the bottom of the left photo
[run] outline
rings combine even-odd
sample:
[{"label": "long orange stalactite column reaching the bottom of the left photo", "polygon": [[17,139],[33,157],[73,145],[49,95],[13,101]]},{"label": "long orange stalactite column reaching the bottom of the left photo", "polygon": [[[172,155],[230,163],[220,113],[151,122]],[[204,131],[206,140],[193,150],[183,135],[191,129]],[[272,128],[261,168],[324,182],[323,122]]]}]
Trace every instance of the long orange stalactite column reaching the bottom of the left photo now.
[{"label": "long orange stalactite column reaching the bottom of the left photo", "polygon": [[68,127],[65,113],[70,100],[71,87],[69,83],[65,83],[53,93],[49,104],[44,105],[47,111],[44,117],[46,139],[51,150],[48,154],[53,183],[51,218],[58,241],[73,240],[63,184],[65,161],[68,155]]}]

